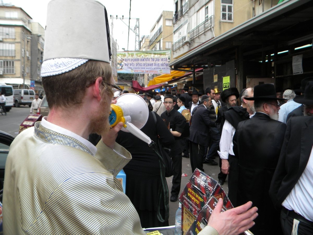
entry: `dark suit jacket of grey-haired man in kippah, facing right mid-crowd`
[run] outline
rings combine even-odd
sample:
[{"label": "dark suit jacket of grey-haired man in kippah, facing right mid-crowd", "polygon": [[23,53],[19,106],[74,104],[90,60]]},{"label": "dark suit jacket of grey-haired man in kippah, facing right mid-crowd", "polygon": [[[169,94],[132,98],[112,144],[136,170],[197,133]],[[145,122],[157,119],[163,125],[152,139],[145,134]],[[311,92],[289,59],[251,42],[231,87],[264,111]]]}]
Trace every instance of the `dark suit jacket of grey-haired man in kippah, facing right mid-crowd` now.
[{"label": "dark suit jacket of grey-haired man in kippah, facing right mid-crowd", "polygon": [[210,138],[210,127],[215,127],[215,123],[209,117],[209,110],[201,104],[197,112],[192,115],[189,140],[206,146]]}]

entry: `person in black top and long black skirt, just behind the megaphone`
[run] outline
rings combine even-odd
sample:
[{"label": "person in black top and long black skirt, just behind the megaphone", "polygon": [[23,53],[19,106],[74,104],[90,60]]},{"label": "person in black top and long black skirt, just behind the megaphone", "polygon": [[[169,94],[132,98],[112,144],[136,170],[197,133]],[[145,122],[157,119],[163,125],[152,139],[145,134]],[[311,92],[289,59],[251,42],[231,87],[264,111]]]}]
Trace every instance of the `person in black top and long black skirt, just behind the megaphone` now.
[{"label": "person in black top and long black skirt, just behind the megaphone", "polygon": [[[157,142],[159,136],[162,145],[170,147],[174,143],[174,137],[162,118],[157,114],[155,116],[156,124],[152,112],[149,112],[148,121],[141,131],[154,142]],[[141,226],[143,228],[168,226],[168,221],[160,222],[156,217],[161,184],[160,165],[156,153],[148,144],[124,131],[118,133],[116,142],[132,156],[131,161],[123,168],[126,173],[126,195],[139,214]],[[164,208],[162,203],[161,208]]]}]

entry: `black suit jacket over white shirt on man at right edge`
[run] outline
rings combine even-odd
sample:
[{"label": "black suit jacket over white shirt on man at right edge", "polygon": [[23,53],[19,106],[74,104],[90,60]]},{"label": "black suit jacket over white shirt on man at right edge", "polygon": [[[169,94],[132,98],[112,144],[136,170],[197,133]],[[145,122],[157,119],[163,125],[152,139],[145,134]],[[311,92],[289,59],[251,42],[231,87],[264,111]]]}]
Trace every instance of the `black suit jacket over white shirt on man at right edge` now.
[{"label": "black suit jacket over white shirt on man at right edge", "polygon": [[278,208],[308,163],[313,146],[312,133],[313,117],[293,117],[287,123],[284,144],[269,189],[269,195]]}]

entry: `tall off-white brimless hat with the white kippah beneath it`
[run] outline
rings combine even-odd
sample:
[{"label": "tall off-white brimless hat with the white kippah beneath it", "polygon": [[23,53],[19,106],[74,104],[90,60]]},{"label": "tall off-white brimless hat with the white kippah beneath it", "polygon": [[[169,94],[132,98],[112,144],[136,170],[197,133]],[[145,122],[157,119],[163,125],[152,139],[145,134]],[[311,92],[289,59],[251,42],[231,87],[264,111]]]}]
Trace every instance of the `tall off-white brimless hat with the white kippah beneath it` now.
[{"label": "tall off-white brimless hat with the white kippah beneath it", "polygon": [[41,76],[68,72],[88,60],[110,63],[105,7],[94,0],[52,0],[48,4]]}]

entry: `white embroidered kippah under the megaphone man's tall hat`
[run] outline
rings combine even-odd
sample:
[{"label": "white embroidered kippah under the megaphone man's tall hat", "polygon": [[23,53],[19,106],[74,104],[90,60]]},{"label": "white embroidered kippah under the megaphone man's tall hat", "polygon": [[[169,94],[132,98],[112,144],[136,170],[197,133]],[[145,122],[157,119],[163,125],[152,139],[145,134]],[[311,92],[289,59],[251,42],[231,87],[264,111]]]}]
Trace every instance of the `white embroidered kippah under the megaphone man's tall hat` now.
[{"label": "white embroidered kippah under the megaphone man's tall hat", "polygon": [[66,73],[87,61],[87,59],[80,58],[55,58],[45,60],[41,65],[41,76],[47,77]]}]

